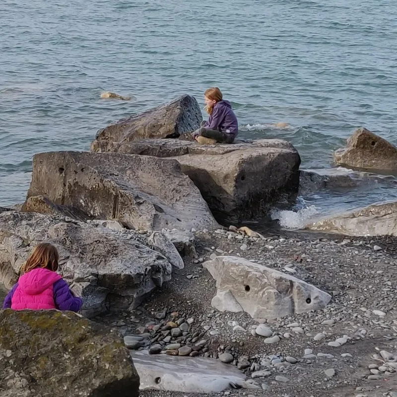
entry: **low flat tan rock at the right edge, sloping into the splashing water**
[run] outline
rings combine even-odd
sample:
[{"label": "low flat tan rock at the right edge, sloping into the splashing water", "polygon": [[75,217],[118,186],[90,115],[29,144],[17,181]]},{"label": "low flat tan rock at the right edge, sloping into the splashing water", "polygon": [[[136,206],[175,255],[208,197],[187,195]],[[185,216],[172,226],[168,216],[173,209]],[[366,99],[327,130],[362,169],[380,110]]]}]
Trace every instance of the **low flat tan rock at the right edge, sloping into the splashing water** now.
[{"label": "low flat tan rock at the right edge, sloping into the splashing water", "polygon": [[309,223],[305,229],[348,236],[397,236],[397,202],[373,204],[331,216]]}]

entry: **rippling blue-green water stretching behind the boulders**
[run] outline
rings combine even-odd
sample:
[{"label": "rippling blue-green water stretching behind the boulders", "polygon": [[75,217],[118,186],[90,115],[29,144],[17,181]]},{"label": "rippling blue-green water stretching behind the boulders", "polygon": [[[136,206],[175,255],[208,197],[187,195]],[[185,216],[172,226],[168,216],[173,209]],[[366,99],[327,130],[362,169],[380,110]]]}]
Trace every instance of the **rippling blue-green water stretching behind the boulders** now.
[{"label": "rippling blue-green water stretching behind the boulders", "polygon": [[[88,150],[99,128],[182,93],[203,105],[213,85],[241,136],[290,140],[302,168],[332,167],[360,126],[397,143],[395,0],[5,0],[0,15],[0,205],[24,200],[34,153]],[[388,179],[302,199],[331,213],[397,193]]]}]

